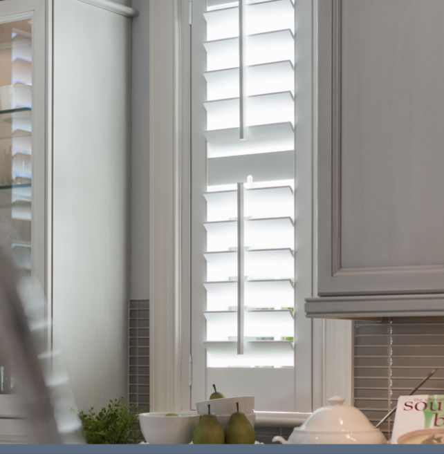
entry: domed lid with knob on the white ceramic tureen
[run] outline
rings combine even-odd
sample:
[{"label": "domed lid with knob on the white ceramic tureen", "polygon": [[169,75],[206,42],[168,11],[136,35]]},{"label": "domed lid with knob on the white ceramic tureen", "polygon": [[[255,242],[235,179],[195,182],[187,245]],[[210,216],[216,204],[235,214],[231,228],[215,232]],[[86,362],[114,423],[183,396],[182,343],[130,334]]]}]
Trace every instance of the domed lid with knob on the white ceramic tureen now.
[{"label": "domed lid with knob on the white ceramic tureen", "polygon": [[364,432],[375,427],[361,410],[344,404],[344,397],[327,399],[328,406],[317,408],[302,424],[300,431],[306,432]]}]

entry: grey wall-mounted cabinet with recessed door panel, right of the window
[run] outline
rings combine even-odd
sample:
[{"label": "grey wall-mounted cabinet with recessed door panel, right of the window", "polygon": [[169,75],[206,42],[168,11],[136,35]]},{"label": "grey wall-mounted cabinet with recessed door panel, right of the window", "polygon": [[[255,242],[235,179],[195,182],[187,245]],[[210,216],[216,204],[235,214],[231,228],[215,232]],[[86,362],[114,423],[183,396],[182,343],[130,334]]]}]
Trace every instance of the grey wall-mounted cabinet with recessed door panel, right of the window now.
[{"label": "grey wall-mounted cabinet with recessed door panel, right of the window", "polygon": [[318,296],[444,314],[444,2],[320,0]]}]

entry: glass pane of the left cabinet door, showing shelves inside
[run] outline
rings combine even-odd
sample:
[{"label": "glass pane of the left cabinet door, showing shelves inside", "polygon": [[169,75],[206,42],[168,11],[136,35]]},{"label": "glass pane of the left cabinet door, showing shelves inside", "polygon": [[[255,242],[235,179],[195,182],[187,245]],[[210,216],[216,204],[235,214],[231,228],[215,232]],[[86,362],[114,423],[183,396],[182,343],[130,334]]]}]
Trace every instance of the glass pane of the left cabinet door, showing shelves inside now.
[{"label": "glass pane of the left cabinet door, showing shelves inside", "polygon": [[[31,273],[32,20],[0,23],[0,247],[21,277]],[[0,395],[15,393],[0,352]]]}]

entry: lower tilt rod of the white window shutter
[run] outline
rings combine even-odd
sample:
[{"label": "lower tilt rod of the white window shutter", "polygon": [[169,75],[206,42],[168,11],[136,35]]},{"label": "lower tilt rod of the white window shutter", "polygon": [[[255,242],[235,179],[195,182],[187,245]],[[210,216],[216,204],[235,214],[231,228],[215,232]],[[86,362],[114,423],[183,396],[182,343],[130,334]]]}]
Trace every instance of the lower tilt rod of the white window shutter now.
[{"label": "lower tilt rod of the white window shutter", "polygon": [[237,183],[237,354],[243,354],[243,183]]}]

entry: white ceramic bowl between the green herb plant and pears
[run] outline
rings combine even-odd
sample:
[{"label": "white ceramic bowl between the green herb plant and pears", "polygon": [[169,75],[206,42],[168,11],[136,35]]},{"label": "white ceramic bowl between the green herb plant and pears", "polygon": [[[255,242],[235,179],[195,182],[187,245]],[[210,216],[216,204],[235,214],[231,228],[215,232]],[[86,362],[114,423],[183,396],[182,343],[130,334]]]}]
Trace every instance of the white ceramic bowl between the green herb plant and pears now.
[{"label": "white ceramic bowl between the green herb plant and pears", "polygon": [[[179,416],[165,416],[178,413]],[[140,429],[150,444],[189,444],[201,415],[184,412],[140,413]]]}]

